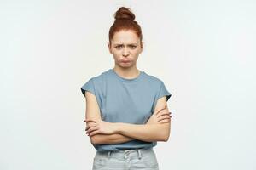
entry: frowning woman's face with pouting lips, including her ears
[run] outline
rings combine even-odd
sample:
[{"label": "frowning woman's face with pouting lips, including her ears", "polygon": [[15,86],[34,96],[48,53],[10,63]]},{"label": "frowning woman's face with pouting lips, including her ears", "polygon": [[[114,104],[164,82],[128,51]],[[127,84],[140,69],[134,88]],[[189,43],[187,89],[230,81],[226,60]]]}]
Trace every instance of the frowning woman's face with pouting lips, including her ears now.
[{"label": "frowning woman's face with pouting lips, including her ears", "polygon": [[108,43],[108,48],[110,54],[113,54],[115,64],[127,68],[136,65],[138,55],[143,51],[143,43],[141,46],[134,31],[123,30],[114,33],[111,47]]}]

